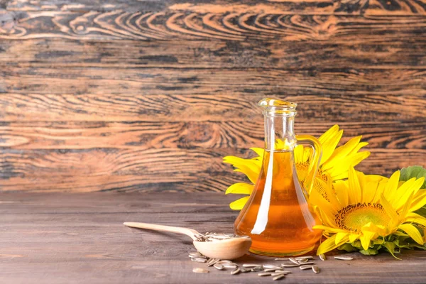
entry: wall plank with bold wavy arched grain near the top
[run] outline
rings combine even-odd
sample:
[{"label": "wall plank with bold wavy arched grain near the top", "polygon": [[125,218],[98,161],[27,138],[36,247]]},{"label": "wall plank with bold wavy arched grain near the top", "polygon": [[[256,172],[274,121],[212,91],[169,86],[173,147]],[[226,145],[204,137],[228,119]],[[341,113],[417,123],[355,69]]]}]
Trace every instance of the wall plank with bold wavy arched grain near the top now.
[{"label": "wall plank with bold wavy arched grain near the top", "polygon": [[[74,40],[356,40],[364,43],[425,36],[425,18],[200,13],[192,11],[7,12],[0,38]],[[368,30],[367,30],[368,29]],[[360,35],[362,37],[360,37]],[[402,38],[401,38],[402,37]]]}]

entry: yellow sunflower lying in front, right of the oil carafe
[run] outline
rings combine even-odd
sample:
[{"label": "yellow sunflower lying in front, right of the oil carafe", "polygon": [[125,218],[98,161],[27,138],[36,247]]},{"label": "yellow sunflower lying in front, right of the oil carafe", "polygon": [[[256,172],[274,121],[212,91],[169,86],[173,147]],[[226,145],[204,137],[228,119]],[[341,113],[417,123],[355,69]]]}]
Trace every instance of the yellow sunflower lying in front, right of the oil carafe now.
[{"label": "yellow sunflower lying in front, right of the oil carafe", "polygon": [[323,223],[314,228],[323,229],[328,237],[317,254],[344,244],[366,254],[374,254],[368,253],[369,249],[386,247],[393,254],[395,246],[405,247],[400,246],[400,237],[410,237],[425,249],[422,228],[426,218],[414,213],[426,203],[426,190],[420,190],[425,178],[406,182],[399,179],[399,170],[391,178],[384,178],[350,168],[348,180],[337,181],[334,192],[327,192],[329,201],[312,192],[310,200],[317,206]]}]

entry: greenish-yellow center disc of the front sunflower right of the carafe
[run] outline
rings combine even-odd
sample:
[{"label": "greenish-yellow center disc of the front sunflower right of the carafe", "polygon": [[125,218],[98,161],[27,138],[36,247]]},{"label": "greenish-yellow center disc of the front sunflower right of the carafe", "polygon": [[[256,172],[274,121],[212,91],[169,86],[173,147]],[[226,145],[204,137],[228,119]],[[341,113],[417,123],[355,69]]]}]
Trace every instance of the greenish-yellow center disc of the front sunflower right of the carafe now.
[{"label": "greenish-yellow center disc of the front sunflower right of the carafe", "polygon": [[391,220],[380,203],[350,204],[337,212],[336,224],[347,231],[361,231],[369,222],[375,225],[387,226]]}]

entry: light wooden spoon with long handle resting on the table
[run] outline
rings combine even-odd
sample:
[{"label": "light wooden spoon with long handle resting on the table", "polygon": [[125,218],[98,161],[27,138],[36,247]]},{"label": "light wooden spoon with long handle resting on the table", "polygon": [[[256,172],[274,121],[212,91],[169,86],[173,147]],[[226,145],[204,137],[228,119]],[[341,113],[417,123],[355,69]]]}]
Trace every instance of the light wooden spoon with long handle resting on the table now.
[{"label": "light wooden spoon with long handle resting on the table", "polygon": [[219,241],[197,241],[196,235],[200,234],[194,229],[182,228],[178,226],[163,226],[157,224],[148,223],[136,223],[126,222],[124,225],[139,228],[139,229],[150,229],[155,231],[170,231],[172,233],[185,234],[193,240],[193,244],[197,251],[200,251],[202,255],[209,258],[219,259],[235,259],[249,251],[251,246],[251,239],[249,236],[236,237],[231,239],[223,239]]}]

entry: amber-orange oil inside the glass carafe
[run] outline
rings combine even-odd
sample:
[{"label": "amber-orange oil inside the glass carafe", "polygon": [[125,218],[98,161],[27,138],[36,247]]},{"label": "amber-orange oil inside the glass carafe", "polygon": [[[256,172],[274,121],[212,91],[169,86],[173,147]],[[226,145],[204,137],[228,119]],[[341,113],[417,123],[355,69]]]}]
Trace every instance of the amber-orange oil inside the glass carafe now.
[{"label": "amber-orange oil inside the glass carafe", "polygon": [[[250,236],[253,243],[250,251],[261,255],[288,256],[300,255],[314,249],[322,234],[312,229],[320,224],[302,192],[295,183],[293,152],[273,153],[273,178],[268,221],[261,234],[252,234],[265,190],[266,174],[271,153],[266,152],[263,170],[256,182],[253,194],[235,222],[236,234]],[[297,178],[296,178],[297,180]]]}]

